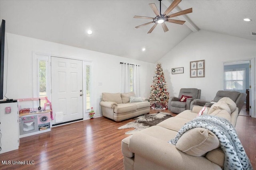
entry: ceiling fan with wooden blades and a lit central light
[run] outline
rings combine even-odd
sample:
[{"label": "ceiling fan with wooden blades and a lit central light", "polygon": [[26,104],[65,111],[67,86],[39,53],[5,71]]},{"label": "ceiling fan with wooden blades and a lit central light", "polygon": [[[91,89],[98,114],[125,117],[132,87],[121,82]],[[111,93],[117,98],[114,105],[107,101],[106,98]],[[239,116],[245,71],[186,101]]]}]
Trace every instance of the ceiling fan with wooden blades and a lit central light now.
[{"label": "ceiling fan with wooden blades and a lit central light", "polygon": [[156,14],[155,18],[153,18],[153,17],[143,17],[143,16],[134,16],[134,18],[151,19],[153,21],[148,22],[148,23],[144,23],[144,24],[139,25],[135,28],[139,28],[139,27],[148,25],[150,23],[155,23],[153,25],[153,27],[148,31],[148,33],[151,33],[153,31],[153,29],[156,27],[156,25],[158,23],[160,23],[162,25],[162,28],[164,29],[164,32],[166,32],[166,31],[169,31],[169,29],[167,28],[167,26],[164,22],[178,23],[178,24],[183,25],[186,21],[172,20],[170,18],[173,18],[173,17],[176,17],[176,16],[181,16],[181,15],[188,14],[188,13],[192,12],[192,8],[189,8],[187,10],[183,10],[183,11],[168,15],[181,2],[181,0],[174,0],[172,2],[172,4],[167,8],[167,10],[163,14],[161,14],[161,1],[162,0],[159,0],[159,1],[160,1],[160,12],[156,8],[156,4],[149,4],[149,6],[152,8],[154,13]]}]

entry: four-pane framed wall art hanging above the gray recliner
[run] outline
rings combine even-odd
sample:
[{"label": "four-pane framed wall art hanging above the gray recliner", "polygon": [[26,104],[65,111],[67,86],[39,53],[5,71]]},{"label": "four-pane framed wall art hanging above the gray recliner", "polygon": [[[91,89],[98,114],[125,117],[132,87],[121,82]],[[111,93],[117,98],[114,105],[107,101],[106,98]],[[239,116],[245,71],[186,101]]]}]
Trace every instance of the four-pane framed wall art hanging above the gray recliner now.
[{"label": "four-pane framed wall art hanging above the gray recliner", "polygon": [[190,61],[190,78],[204,77],[205,61]]}]

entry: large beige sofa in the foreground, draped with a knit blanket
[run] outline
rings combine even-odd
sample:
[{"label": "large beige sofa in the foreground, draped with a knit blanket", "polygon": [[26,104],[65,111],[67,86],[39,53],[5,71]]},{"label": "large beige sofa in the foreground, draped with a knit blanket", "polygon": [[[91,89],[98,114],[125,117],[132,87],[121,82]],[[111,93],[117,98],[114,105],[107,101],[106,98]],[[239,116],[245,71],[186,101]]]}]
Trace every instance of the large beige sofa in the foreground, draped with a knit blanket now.
[{"label": "large beige sofa in the foreground, draped with a knit blanket", "polygon": [[[222,107],[224,103],[225,107]],[[238,108],[234,102],[230,103],[230,100],[223,98],[208,107],[208,113],[224,117],[235,126]],[[226,108],[227,105],[230,108]],[[221,170],[224,165],[224,152],[220,149],[218,138],[208,129],[190,129],[186,135],[182,135],[183,139],[178,140],[179,146],[178,143],[176,146],[168,143],[176,137],[185,123],[196,118],[201,109],[201,106],[194,106],[192,111],[185,110],[175,117],[123,139],[124,169]]]}]

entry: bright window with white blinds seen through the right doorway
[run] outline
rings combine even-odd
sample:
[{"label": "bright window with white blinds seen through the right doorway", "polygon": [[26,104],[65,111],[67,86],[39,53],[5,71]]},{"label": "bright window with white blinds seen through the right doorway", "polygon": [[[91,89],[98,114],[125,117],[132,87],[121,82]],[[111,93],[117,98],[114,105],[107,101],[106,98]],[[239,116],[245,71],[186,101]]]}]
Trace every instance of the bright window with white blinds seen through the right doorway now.
[{"label": "bright window with white blinds seen through the right doorway", "polygon": [[224,77],[224,88],[225,90],[235,90],[238,92],[245,92],[246,83],[245,83],[245,69],[233,69],[225,70]]}]

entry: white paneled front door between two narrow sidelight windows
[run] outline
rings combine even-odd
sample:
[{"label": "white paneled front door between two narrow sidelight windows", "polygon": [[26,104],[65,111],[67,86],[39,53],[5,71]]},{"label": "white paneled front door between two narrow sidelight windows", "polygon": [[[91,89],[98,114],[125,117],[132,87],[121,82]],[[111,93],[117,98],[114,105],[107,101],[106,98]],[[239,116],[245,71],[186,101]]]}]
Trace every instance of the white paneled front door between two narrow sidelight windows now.
[{"label": "white paneled front door between two narrow sidelight windows", "polygon": [[51,57],[52,124],[83,118],[82,61]]}]

